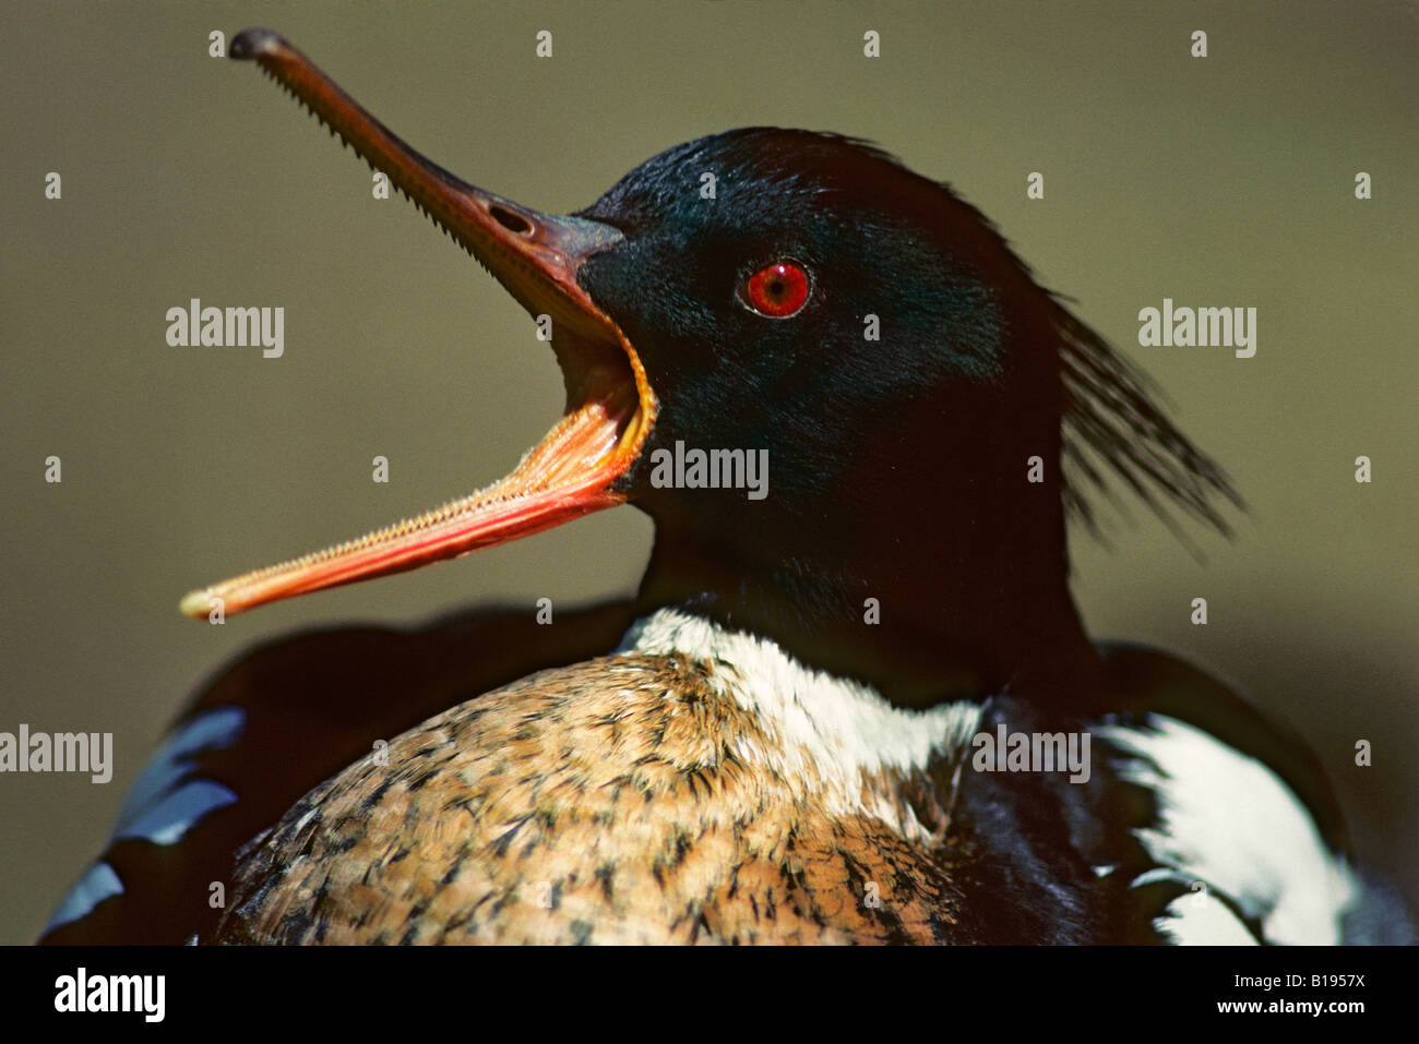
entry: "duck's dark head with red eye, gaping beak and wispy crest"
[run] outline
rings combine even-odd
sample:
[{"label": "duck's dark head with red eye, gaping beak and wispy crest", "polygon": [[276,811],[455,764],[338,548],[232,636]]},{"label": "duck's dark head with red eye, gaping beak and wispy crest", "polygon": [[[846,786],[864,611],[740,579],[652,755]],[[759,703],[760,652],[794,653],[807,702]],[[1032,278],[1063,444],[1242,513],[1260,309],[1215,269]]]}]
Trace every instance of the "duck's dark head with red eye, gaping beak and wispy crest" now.
[{"label": "duck's dark head with red eye, gaping beak and wispy crest", "polygon": [[[1088,494],[1110,474],[1223,525],[1212,502],[1230,487],[1145,379],[978,210],[871,145],[731,130],[549,216],[431,163],[277,34],[248,30],[230,54],[257,61],[551,321],[568,399],[507,478],[193,592],[192,616],[630,502],[657,523],[643,599],[694,601],[832,661],[871,597],[900,613],[908,647],[1019,633],[1026,601],[1043,614],[1026,631],[1059,631],[1046,617],[1073,617],[1063,519],[1093,522]],[[692,468],[695,452],[712,471],[700,481],[677,462]]]}]

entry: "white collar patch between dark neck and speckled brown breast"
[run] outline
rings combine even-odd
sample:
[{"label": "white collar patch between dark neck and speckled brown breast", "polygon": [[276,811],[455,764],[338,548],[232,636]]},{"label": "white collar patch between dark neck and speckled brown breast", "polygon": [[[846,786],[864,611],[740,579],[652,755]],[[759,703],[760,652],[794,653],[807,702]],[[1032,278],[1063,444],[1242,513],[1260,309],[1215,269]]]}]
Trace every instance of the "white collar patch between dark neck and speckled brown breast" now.
[{"label": "white collar patch between dark neck and speckled brown breast", "polygon": [[745,762],[769,765],[789,779],[816,774],[833,811],[866,813],[905,837],[927,831],[910,809],[873,793],[868,777],[924,769],[934,753],[949,757],[969,746],[981,722],[979,704],[897,708],[868,685],[805,667],[768,638],[727,631],[675,609],[637,620],[616,651],[711,661],[721,670],[710,684],[778,740],[772,750],[736,752]]}]

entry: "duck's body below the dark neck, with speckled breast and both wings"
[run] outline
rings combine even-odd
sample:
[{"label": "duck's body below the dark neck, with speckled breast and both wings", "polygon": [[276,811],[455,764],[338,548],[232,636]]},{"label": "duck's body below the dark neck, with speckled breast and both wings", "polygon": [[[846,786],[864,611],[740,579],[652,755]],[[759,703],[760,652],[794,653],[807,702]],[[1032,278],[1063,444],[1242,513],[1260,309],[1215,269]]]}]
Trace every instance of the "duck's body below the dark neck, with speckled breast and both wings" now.
[{"label": "duck's body below the dark neck, with speckled breast and both wings", "polygon": [[[559,634],[599,645],[624,620],[568,614]],[[166,780],[234,800],[187,821],[156,787],[169,835],[116,840],[98,865],[125,884],[47,940],[1254,943],[1277,908],[1310,912],[1288,942],[1405,938],[1393,908],[1357,928],[1369,894],[1304,746],[1165,654],[1104,650],[1121,709],[1081,725],[1007,698],[894,708],[771,643],[660,613],[619,652],[551,651],[572,665],[482,692],[518,671],[499,650],[532,633],[481,614],[248,654],[179,722],[189,750]],[[448,709],[382,718],[396,684]],[[1088,784],[973,772],[972,738],[1000,722],[1094,729]],[[1176,833],[1151,743],[1200,787],[1181,850],[1141,841]],[[231,882],[219,908],[213,881]]]}]

